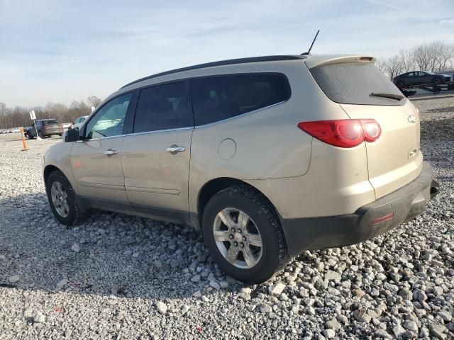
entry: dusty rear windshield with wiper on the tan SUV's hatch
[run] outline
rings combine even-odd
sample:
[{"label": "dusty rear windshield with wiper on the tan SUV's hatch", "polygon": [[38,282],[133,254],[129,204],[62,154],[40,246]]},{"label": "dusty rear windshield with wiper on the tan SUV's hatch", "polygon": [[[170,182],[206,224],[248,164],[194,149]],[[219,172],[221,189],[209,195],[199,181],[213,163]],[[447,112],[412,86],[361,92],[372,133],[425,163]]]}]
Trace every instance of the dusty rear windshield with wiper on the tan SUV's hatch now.
[{"label": "dusty rear windshield with wiper on the tan SUV's hatch", "polygon": [[336,103],[398,106],[405,102],[370,96],[372,92],[402,96],[374,64],[328,64],[309,70],[326,96]]}]

